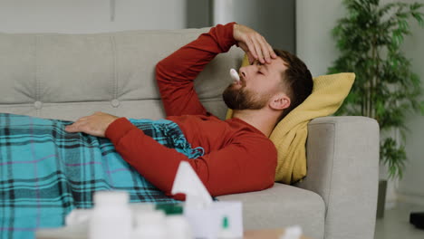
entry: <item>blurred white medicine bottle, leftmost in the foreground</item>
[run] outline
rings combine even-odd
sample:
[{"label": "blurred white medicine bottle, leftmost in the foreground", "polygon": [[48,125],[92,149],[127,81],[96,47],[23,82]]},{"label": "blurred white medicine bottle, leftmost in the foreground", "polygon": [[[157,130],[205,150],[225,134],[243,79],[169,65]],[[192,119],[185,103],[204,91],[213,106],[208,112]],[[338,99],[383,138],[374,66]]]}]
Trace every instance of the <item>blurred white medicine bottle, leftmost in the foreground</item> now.
[{"label": "blurred white medicine bottle, leftmost in the foreground", "polygon": [[132,217],[130,196],[123,191],[94,193],[89,239],[130,239]]}]

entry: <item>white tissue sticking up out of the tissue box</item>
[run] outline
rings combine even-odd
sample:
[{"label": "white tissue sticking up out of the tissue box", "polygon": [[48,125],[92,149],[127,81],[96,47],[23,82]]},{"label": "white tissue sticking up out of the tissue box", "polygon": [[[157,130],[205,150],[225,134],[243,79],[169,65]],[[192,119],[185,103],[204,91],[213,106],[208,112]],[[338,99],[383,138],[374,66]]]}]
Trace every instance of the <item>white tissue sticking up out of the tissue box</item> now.
[{"label": "white tissue sticking up out of the tissue box", "polygon": [[179,163],[171,194],[185,194],[185,207],[189,209],[200,209],[212,205],[212,197],[207,192],[206,186],[186,161]]}]

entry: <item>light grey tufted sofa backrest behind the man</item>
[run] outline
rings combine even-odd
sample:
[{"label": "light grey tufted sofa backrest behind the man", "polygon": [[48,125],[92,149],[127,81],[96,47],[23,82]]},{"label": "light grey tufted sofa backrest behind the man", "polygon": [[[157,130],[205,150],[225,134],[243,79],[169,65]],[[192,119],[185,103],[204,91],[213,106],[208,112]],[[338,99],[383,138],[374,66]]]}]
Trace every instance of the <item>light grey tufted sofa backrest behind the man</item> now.
[{"label": "light grey tufted sofa backrest behind the man", "polygon": [[[75,120],[94,111],[165,117],[155,81],[161,59],[208,28],[118,33],[0,33],[0,112]],[[223,119],[221,94],[243,52],[219,54],[195,81],[207,110]]]}]

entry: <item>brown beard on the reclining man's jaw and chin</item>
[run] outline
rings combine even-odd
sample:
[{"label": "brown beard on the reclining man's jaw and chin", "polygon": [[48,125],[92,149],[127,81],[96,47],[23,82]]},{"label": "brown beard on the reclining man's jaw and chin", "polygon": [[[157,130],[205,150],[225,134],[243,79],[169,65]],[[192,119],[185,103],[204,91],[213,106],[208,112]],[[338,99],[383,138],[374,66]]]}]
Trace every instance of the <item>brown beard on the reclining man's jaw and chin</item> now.
[{"label": "brown beard on the reclining man's jaw and chin", "polygon": [[226,88],[222,97],[226,106],[232,110],[260,110],[266,106],[270,99],[267,95],[261,95],[258,92],[246,89],[246,87],[237,88],[234,84]]}]

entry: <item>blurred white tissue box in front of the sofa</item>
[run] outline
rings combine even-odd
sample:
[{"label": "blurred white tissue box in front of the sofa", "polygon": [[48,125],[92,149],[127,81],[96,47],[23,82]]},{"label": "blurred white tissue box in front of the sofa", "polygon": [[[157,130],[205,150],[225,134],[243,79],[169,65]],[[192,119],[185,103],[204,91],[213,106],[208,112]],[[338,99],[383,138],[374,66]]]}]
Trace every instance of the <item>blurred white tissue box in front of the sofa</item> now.
[{"label": "blurred white tissue box in front of the sofa", "polygon": [[228,219],[228,229],[236,238],[243,238],[242,203],[238,201],[213,202],[206,208],[184,208],[184,215],[196,238],[216,239]]}]

